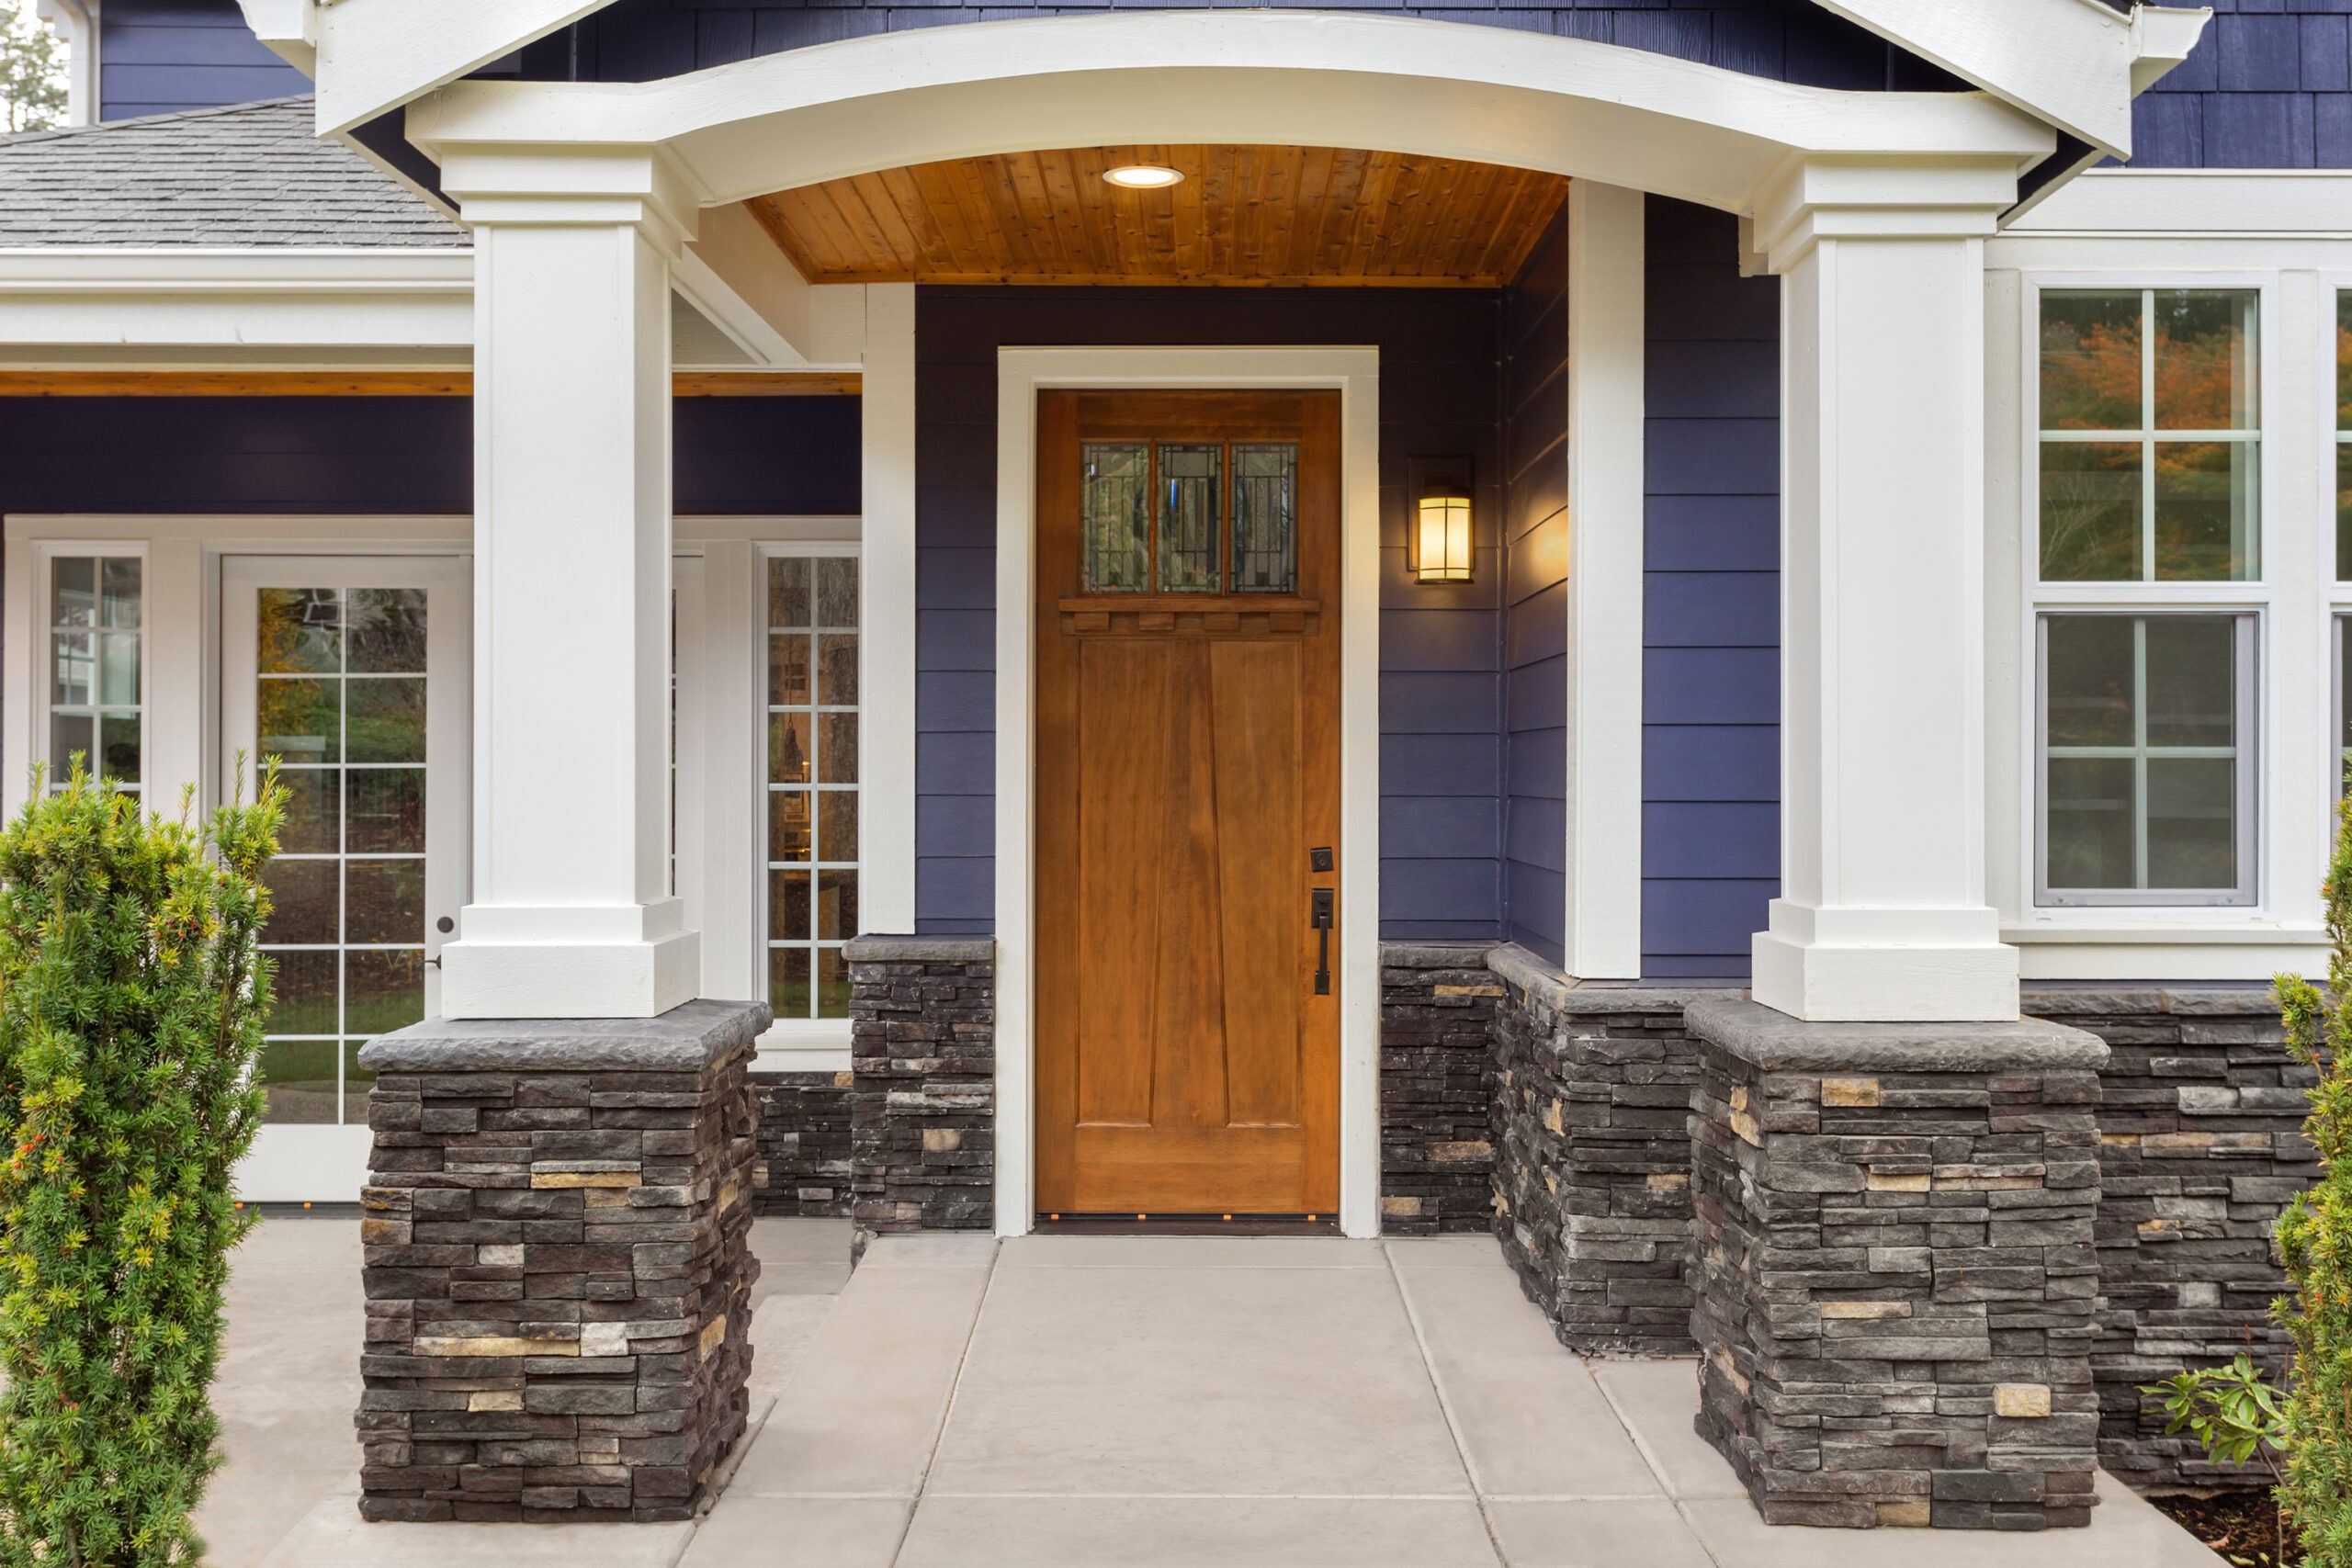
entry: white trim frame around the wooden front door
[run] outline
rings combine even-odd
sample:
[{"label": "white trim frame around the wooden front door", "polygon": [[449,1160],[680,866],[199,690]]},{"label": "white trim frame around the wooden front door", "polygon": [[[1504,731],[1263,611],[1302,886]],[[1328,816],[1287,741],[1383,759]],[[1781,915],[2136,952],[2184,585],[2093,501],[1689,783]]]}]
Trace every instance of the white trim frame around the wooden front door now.
[{"label": "white trim frame around the wooden front door", "polygon": [[1035,468],[1040,388],[1341,395],[1338,1220],[1381,1234],[1381,350],[997,350],[997,1234],[1037,1215]]}]

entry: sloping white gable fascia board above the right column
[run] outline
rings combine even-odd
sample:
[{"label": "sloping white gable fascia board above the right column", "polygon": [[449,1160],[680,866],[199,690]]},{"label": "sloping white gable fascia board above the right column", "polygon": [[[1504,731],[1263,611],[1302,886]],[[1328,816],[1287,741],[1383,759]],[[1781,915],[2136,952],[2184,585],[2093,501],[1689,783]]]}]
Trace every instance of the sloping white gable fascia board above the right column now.
[{"label": "sloping white gable fascia board above the right column", "polygon": [[2100,0],[1816,2],[2096,148],[2131,153],[2138,28]]}]

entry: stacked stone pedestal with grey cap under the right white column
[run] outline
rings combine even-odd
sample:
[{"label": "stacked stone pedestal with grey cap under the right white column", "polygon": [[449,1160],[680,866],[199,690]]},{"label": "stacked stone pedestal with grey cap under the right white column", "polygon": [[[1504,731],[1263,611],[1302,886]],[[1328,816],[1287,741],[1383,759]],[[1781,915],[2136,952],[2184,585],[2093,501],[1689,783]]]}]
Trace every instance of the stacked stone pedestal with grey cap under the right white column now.
[{"label": "stacked stone pedestal with grey cap under the right white column", "polygon": [[1686,1020],[1698,1432],[1764,1519],[2089,1523],[2105,1041],[1738,997]]}]

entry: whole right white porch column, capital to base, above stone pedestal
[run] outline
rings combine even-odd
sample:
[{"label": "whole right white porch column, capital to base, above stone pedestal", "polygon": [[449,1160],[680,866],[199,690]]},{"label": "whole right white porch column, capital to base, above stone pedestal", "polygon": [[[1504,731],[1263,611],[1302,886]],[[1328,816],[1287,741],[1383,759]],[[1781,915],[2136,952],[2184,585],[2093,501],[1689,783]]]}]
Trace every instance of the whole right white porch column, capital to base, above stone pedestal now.
[{"label": "whole right white porch column, capital to base, above stone pedestal", "polygon": [[1780,275],[1780,898],[1755,999],[2016,1018],[1985,900],[1985,270],[2016,165],[1811,160]]}]

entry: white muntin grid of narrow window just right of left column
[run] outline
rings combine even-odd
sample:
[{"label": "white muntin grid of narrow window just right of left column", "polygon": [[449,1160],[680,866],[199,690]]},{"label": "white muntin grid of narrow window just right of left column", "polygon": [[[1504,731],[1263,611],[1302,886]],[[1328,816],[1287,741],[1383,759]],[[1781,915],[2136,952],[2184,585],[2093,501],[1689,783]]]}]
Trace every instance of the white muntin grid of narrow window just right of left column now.
[{"label": "white muntin grid of narrow window just right of left column", "polygon": [[[828,562],[828,559],[844,559],[844,562],[849,562],[849,574],[851,574],[849,611],[851,614],[849,614],[847,621],[826,621],[823,614],[821,614],[823,597],[818,592],[818,571],[823,569],[821,562]],[[800,625],[800,628],[776,625],[776,616],[774,616],[774,604],[776,604],[774,583],[776,583],[779,569],[786,562],[804,562],[807,564],[807,571],[809,571],[809,625]],[[826,741],[823,741],[826,726],[823,726],[821,719],[826,719],[826,717],[849,717],[851,724],[856,726],[861,708],[863,708],[863,654],[866,654],[863,637],[866,637],[866,632],[863,632],[863,625],[858,625],[858,578],[861,578],[861,574],[863,574],[863,562],[861,562],[858,545],[849,543],[849,541],[842,541],[842,543],[804,543],[804,545],[769,545],[767,552],[762,555],[762,571],[760,571],[760,625],[764,630],[762,630],[762,637],[760,637],[760,670],[757,670],[760,691],[762,691],[762,705],[760,705],[760,712],[762,712],[762,733],[760,733],[760,778],[762,778],[762,788],[760,788],[760,823],[757,823],[757,832],[760,832],[760,865],[762,865],[762,872],[760,872],[760,952],[762,952],[762,961],[764,961],[764,971],[767,971],[764,973],[764,983],[769,987],[769,1004],[776,1011],[776,1023],[779,1025],[842,1023],[842,1020],[849,1018],[849,983],[847,983],[849,969],[847,969],[847,959],[842,959],[842,947],[854,936],[858,936],[858,931],[856,929],[844,929],[837,936],[823,936],[823,917],[821,917],[818,900],[821,900],[821,889],[823,889],[826,875],[835,872],[835,875],[847,875],[851,910],[856,907],[858,856],[830,856],[828,853],[830,846],[826,844],[826,835],[823,835],[823,816],[826,816],[826,799],[828,797],[833,797],[833,799],[847,799],[849,802],[847,809],[851,813],[851,827],[849,827],[849,832],[851,835],[856,832],[856,799],[858,799],[858,790],[863,788],[863,769],[858,766],[861,745],[854,745],[851,748],[851,773],[854,776],[847,778],[847,780],[840,780],[840,778],[828,780],[826,778],[826,773],[830,769],[828,769],[828,762],[826,762]],[[779,703],[779,701],[774,701],[776,698],[774,658],[776,658],[776,644],[779,644],[781,637],[802,637],[807,642],[807,649],[809,649],[809,677],[807,679],[809,679],[809,684],[807,684],[807,701],[804,703]],[[823,639],[828,639],[828,637],[847,637],[849,639],[851,668],[856,670],[854,679],[858,682],[856,696],[861,701],[854,701],[854,703],[823,703],[823,701],[818,701],[823,696],[823,691],[826,691],[826,675],[823,675],[823,668],[821,668],[821,663],[823,663],[821,656],[823,656]],[[776,736],[776,719],[781,719],[781,717],[807,717],[807,722],[809,722],[809,757],[807,757],[807,780],[804,783],[779,780],[776,778],[774,736]],[[863,741],[863,731],[856,729],[856,733]],[[779,804],[781,797],[788,797],[788,795],[800,795],[807,802],[807,809],[809,809],[809,816],[807,816],[809,853],[804,858],[790,858],[790,860],[776,858],[776,853],[774,853],[776,851],[776,842],[774,842],[776,804]],[[807,936],[781,936],[779,933],[781,931],[781,914],[783,914],[783,910],[776,907],[776,898],[774,898],[779,872],[807,877],[807,896],[804,896],[807,898],[807,922],[809,922]],[[851,917],[847,924],[854,926],[856,919]],[[779,954],[788,954],[788,952],[804,952],[807,954],[807,1006],[804,1006],[804,1011],[797,1011],[797,1013],[795,1011],[786,1011],[786,1006],[783,1006],[783,990],[781,990],[783,983],[779,980]],[[835,980],[835,985],[837,985],[837,1006],[833,1011],[828,1011],[828,1006],[826,1006],[826,964],[828,964],[828,959],[835,966],[835,973],[840,976],[840,980]]]}]

